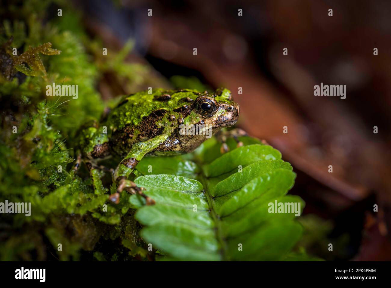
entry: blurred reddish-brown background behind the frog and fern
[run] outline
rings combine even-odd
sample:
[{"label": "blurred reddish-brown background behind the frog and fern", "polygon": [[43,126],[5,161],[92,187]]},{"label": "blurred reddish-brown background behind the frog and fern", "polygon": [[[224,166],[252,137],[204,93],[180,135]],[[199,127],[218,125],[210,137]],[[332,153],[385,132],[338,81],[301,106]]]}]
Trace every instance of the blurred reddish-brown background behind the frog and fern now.
[{"label": "blurred reddish-brown background behind the frog and fern", "polygon": [[[334,259],[391,260],[391,2],[75,4],[88,31],[110,49],[133,39],[128,60],[151,65],[150,77],[164,79],[160,86],[232,91],[240,104],[238,126],[282,151],[298,174],[291,193],[312,214],[303,225],[316,231],[306,238],[315,251],[315,238],[326,235],[346,247]],[[346,85],[346,99],[314,96],[321,82]],[[150,83],[114,84],[104,75],[105,99]]]}]

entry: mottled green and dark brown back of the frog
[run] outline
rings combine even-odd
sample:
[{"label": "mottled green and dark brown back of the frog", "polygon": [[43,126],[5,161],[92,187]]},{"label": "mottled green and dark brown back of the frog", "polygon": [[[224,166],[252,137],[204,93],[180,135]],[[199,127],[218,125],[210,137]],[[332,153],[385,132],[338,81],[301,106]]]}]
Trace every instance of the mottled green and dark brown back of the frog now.
[{"label": "mottled green and dark brown back of the frog", "polygon": [[[195,90],[156,89],[122,98],[106,121],[117,154],[124,154],[136,142],[145,141],[179,126],[190,113],[190,105],[201,94]],[[183,120],[182,120],[183,121]]]}]

